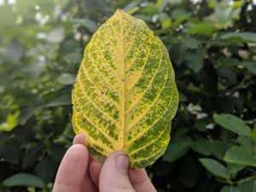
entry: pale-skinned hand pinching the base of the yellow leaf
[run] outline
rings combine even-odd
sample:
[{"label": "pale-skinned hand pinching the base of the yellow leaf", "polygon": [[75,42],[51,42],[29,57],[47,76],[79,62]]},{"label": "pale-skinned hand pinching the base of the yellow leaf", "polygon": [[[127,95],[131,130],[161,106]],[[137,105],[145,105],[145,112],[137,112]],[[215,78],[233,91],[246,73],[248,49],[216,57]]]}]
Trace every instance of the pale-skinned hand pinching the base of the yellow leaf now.
[{"label": "pale-skinned hand pinching the base of the yellow leaf", "polygon": [[55,178],[53,192],[156,192],[144,169],[130,170],[123,151],[109,154],[104,164],[90,157],[85,136],[73,139]]}]

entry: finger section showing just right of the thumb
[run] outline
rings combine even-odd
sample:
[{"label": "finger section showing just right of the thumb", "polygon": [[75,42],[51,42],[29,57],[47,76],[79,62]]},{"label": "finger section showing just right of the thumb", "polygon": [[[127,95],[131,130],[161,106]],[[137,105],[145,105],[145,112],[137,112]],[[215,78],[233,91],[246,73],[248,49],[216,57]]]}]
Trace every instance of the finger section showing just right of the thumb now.
[{"label": "finger section showing just right of the thumb", "polygon": [[132,187],[137,192],[156,192],[154,185],[151,183],[145,169],[129,170],[128,175],[131,181]]}]

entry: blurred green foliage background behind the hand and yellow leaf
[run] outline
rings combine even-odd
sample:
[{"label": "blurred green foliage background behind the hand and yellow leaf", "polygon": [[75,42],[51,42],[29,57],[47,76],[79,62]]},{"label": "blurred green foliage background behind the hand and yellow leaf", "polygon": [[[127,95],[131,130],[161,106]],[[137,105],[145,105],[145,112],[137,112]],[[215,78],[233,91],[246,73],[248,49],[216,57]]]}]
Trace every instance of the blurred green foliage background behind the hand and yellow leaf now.
[{"label": "blurred green foliage background behind the hand and yellow leaf", "polygon": [[256,3],[0,1],[0,191],[50,191],[73,139],[71,89],[91,35],[115,9],[169,50],[180,104],[158,191],[256,191]]}]

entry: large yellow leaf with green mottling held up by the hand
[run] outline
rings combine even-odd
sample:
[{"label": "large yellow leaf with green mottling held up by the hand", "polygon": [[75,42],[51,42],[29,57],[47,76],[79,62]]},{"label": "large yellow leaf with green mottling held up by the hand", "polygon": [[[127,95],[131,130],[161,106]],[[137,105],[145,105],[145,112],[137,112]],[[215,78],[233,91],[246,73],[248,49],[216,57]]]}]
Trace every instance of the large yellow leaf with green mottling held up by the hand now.
[{"label": "large yellow leaf with green mottling held up by the hand", "polygon": [[124,150],[131,168],[154,163],[170,140],[177,111],[171,61],[160,38],[118,9],[86,46],[72,93],[73,130],[105,160]]}]

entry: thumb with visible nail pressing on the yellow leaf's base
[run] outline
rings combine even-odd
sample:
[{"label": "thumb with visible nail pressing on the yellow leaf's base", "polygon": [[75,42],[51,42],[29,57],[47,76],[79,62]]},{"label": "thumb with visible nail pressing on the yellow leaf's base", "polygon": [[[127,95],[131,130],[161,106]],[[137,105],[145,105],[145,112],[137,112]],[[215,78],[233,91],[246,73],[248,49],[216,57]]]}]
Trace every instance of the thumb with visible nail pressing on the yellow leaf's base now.
[{"label": "thumb with visible nail pressing on the yellow leaf's base", "polygon": [[101,192],[135,192],[128,177],[129,159],[123,151],[109,154],[99,178]]}]

